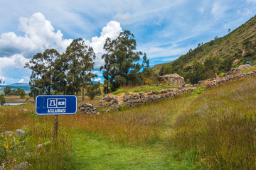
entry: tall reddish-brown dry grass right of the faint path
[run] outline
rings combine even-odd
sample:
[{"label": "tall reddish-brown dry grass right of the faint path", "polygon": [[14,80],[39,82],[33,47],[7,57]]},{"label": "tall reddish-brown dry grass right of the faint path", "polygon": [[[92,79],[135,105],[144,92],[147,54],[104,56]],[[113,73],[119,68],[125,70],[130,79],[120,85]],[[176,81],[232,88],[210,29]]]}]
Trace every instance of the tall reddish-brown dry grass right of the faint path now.
[{"label": "tall reddish-brown dry grass right of the faint path", "polygon": [[169,145],[207,169],[256,169],[256,78],[203,93],[173,123]]}]

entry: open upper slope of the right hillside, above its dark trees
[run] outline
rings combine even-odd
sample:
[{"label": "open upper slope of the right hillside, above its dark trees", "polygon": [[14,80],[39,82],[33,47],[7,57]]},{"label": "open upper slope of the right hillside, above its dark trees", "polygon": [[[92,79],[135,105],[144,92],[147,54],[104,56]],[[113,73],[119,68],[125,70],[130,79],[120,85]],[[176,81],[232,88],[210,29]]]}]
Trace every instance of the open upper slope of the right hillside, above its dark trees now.
[{"label": "open upper slope of the right hillside, above its dark trees", "polygon": [[[220,64],[225,62],[232,64],[232,67],[238,67],[240,64],[250,61],[256,64],[256,16],[242,24],[232,32],[221,38],[215,37],[214,40],[205,44],[198,44],[194,50],[189,50],[185,55],[181,55],[177,60],[169,63],[156,64],[151,70],[156,74],[165,71],[168,74],[178,73],[183,77],[191,71],[193,62],[204,63],[209,57],[218,57]],[[169,71],[170,70],[170,71]],[[169,72],[168,72],[169,71]],[[226,70],[225,70],[226,71]]]}]

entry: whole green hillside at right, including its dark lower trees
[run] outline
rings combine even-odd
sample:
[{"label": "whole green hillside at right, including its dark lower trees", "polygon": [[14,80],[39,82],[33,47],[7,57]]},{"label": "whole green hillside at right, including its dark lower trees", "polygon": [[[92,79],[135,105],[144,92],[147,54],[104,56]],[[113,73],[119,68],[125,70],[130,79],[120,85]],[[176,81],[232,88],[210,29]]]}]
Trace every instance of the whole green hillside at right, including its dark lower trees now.
[{"label": "whole green hillside at right, including its dark lower trees", "polygon": [[151,67],[151,70],[160,75],[178,73],[187,82],[191,82],[192,74],[206,72],[204,77],[196,80],[198,81],[211,78],[221,72],[228,72],[230,68],[246,62],[256,64],[256,16],[228,35],[222,38],[215,37],[205,44],[198,44],[198,47],[189,50],[186,55],[182,55],[174,62],[157,64]]}]

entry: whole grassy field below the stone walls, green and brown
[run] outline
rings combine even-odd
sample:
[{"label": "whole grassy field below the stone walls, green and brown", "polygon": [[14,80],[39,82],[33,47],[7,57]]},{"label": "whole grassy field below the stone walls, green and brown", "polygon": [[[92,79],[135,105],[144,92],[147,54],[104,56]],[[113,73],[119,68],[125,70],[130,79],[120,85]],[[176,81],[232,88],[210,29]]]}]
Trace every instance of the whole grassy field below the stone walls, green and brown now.
[{"label": "whole grassy field below the stone walls, green and brown", "polygon": [[[200,90],[200,89],[199,89]],[[89,102],[89,101],[88,101]],[[92,101],[98,103],[98,99]],[[1,106],[3,169],[256,169],[256,77],[97,116],[38,116],[33,104]],[[23,111],[26,108],[28,111]]]}]

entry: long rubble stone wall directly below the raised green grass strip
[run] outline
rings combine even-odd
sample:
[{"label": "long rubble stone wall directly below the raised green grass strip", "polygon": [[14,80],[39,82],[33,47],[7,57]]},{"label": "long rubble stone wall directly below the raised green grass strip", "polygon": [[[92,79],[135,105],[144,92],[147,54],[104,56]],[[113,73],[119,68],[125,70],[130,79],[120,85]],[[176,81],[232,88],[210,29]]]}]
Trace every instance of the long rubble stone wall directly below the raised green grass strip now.
[{"label": "long rubble stone wall directly below the raised green grass strip", "polygon": [[121,106],[133,107],[138,104],[154,103],[166,98],[173,98],[181,94],[193,93],[193,89],[166,89],[161,91],[149,91],[139,93],[126,93],[119,96],[108,94],[100,101],[100,106],[109,106],[104,112],[116,111]]}]

